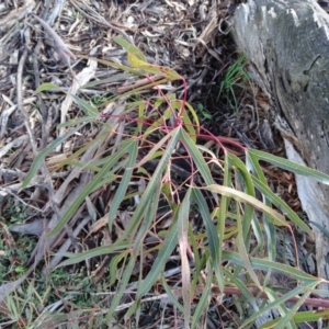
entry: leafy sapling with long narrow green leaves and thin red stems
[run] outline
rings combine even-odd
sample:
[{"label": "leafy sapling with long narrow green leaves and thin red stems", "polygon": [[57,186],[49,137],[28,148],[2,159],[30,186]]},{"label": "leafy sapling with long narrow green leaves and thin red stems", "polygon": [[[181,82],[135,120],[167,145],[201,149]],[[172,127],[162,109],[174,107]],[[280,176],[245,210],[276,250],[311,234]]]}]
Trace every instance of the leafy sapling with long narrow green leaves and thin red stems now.
[{"label": "leafy sapling with long narrow green leaves and thin red stems", "polygon": [[[150,303],[158,300],[161,305],[172,305],[162,309],[162,326],[172,325],[173,314],[172,321],[182,328],[203,328],[209,313],[209,296],[219,300],[225,294],[242,296],[253,309],[239,326],[250,326],[260,315],[275,308],[280,313],[275,328],[295,328],[302,319],[296,317],[299,306],[314,302],[309,295],[314,292],[326,295],[316,290],[324,280],[299,270],[297,253],[296,266],[277,261],[277,229],[292,236],[293,226],[310,237],[313,231],[271,191],[259,162],[310,175],[325,184],[329,183],[329,177],[247,149],[230,138],[213,136],[200,126],[186,94],[179,100],[173,93],[162,92],[161,86],[174,80],[186,90],[180,75],[148,64],[138,48],[121,38],[114,39],[127,52],[131,66],[99,61],[132,75],[136,81],[106,102],[104,106],[116,109],[111,114],[99,113],[99,109],[72,95],[86,116],[64,125],[75,127],[39,152],[22,184],[22,189],[26,188],[48,154],[89,123],[103,127],[95,138],[57,166],[57,171],[70,166],[83,178],[88,173],[90,179],[77,182],[86,184],[73,190],[79,193],[73,194],[61,217],[41,239],[58,237],[81,209],[94,219],[89,235],[102,228],[111,237],[111,242],[104,246],[65,253],[67,259],[59,264],[70,269],[92,259],[109,260],[109,280],[103,281],[110,288],[109,297],[98,313],[100,317],[106,315],[107,326],[122,322],[138,327]],[[239,57],[226,73],[219,94],[228,91],[235,99],[234,86],[247,77],[242,67],[243,57]],[[48,88],[54,89],[54,84],[44,84],[37,92]],[[131,98],[148,89],[155,89],[157,97]],[[132,101],[127,102],[128,99]],[[213,141],[212,149],[204,146],[204,140]],[[93,156],[87,161],[84,156],[90,150]],[[90,201],[103,191],[111,193],[105,215],[100,216]],[[57,197],[56,194],[54,198]],[[179,266],[175,275],[169,273],[174,261]],[[291,279],[290,288],[272,284],[275,273]],[[269,302],[259,303],[260,299]],[[291,308],[285,305],[288,300],[295,303]],[[69,314],[65,310],[47,314],[35,324],[45,328],[54,321],[69,321],[72,316],[79,322],[83,316],[92,318],[95,314],[94,309],[76,305],[72,309]],[[316,314],[313,320],[322,316]],[[239,317],[231,318],[239,321]]]}]

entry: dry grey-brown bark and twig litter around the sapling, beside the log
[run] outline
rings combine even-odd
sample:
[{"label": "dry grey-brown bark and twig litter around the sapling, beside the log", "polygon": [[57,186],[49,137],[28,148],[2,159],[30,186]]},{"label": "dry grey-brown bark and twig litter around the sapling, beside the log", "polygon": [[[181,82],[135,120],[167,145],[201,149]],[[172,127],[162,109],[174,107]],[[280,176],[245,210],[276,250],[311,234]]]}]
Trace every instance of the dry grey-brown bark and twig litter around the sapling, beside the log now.
[{"label": "dry grey-brown bark and twig litter around the sapling, beside the log", "polygon": [[[235,87],[238,101],[236,109],[232,109],[228,97],[218,98],[219,86],[227,69],[239,57],[229,35],[229,18],[240,1],[117,0],[89,1],[87,4],[84,1],[70,0],[65,1],[63,7],[56,0],[38,4],[25,1],[24,5],[22,2],[19,1],[18,8],[14,7],[16,1],[0,4],[0,228],[9,248],[18,248],[21,234],[37,237],[44,232],[46,223],[54,216],[49,200],[65,185],[70,172],[64,170],[52,173],[53,190],[46,185],[47,174],[99,133],[86,131],[84,136],[76,135],[60,148],[52,150],[46,157],[46,168],[38,172],[29,189],[21,191],[21,182],[36,155],[58,137],[56,126],[83,115],[56,90],[49,91],[46,97],[35,94],[34,91],[42,83],[50,82],[65,91],[79,93],[79,86],[76,84],[115,75],[114,69],[101,64],[90,68],[90,63],[86,59],[95,57],[127,65],[126,53],[112,41],[113,36],[136,45],[150,64],[173,68],[183,76],[189,90],[188,102],[194,109],[200,109],[202,125],[212,134],[232,138],[247,147],[284,156],[280,134],[271,126],[269,101],[257,86],[245,81],[242,86]],[[324,7],[327,5],[325,1],[321,2]],[[29,15],[31,12],[47,21],[75,54],[76,60],[71,60],[71,67],[58,57],[56,45],[33,16]],[[79,76],[88,69],[90,71],[84,72],[83,77]],[[84,92],[87,101],[95,102],[98,98],[111,97],[114,90],[132,82],[123,76],[122,80],[109,81],[82,90],[81,93]],[[172,83],[166,88],[178,98],[183,95],[179,84]],[[209,116],[203,115],[204,113]],[[30,128],[25,125],[26,120]],[[269,164],[263,168],[273,191],[295,212],[302,212],[294,175]],[[63,197],[58,198],[59,213],[65,211],[65,202],[71,195],[71,183],[68,185],[68,190],[61,190]],[[103,191],[102,197],[106,200],[110,194],[111,191]],[[15,224],[7,230],[4,228],[13,217],[10,213],[13,206],[18,209],[24,206],[29,216],[24,218],[23,225]],[[82,209],[79,212],[81,214]],[[82,239],[86,238],[81,217],[78,215],[75,220],[76,224],[71,223],[70,226],[77,228],[80,225],[78,237],[81,235]],[[87,230],[94,229],[90,223],[86,223],[84,227],[88,227]],[[87,239],[86,243],[90,245],[89,248],[94,248],[106,239],[111,240],[105,236],[92,241]],[[67,237],[63,232],[54,241],[52,249],[60,248],[65,241]],[[36,245],[24,265],[42,263],[43,248],[44,245]],[[60,260],[58,258],[52,264],[56,265]],[[16,257],[9,258],[8,266],[12,266],[13,262],[21,261]],[[95,275],[98,279],[103,275],[109,259],[101,262]],[[15,279],[8,277],[9,281]],[[218,324],[230,321],[227,315],[220,319],[218,309],[214,310],[216,316],[208,328],[219,328],[216,327]],[[224,309],[223,314],[228,311]],[[146,318],[144,321],[145,326],[149,324]]]}]

